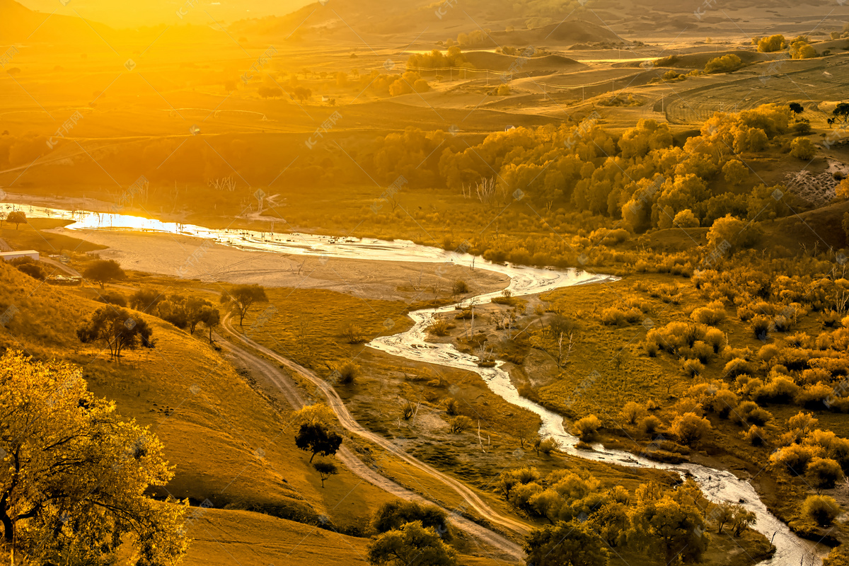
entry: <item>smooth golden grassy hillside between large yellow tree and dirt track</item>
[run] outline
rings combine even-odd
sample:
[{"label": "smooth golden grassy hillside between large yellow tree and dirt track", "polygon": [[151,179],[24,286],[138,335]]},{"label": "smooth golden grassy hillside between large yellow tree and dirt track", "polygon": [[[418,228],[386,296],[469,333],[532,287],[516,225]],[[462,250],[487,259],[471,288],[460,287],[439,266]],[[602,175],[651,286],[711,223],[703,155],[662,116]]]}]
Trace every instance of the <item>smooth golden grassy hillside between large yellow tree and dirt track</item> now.
[{"label": "smooth golden grassy hillside between large yellow tree and dirt track", "polygon": [[96,395],[115,400],[122,415],[160,436],[177,467],[166,488],[173,496],[309,524],[325,515],[340,530],[356,530],[387,499],[344,468],[322,489],[306,452],[295,449],[286,415],[274,412],[202,339],[144,317],[155,349],[109,361],[108,353],[79,344],[75,335],[97,303],[0,263],[0,312],[11,305],[17,311],[0,331],[0,348],[83,367]]}]

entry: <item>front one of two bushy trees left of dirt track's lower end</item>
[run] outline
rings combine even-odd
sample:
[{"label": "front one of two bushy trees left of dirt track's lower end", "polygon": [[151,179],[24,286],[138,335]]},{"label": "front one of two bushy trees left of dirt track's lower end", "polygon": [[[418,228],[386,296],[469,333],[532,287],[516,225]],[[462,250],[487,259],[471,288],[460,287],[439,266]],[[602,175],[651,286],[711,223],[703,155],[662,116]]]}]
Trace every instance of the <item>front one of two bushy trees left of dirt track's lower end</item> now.
[{"label": "front one of two bushy trees left of dirt track's lower end", "polygon": [[435,530],[414,521],[374,539],[368,545],[368,562],[375,566],[455,566],[457,554]]}]

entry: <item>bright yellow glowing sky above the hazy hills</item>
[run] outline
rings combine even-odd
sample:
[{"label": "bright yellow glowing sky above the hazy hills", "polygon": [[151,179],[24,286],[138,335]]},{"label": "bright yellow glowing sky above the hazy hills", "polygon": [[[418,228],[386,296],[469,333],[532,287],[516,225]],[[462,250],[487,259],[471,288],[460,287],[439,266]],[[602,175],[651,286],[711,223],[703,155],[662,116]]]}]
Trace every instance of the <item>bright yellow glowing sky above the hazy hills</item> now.
[{"label": "bright yellow glowing sky above the hazy hills", "polygon": [[[51,14],[80,15],[113,27],[139,25],[177,25],[217,21],[232,22],[245,18],[289,14],[311,0],[70,0],[63,6],[59,0],[19,0],[26,8]],[[183,18],[177,16],[180,11]]]}]

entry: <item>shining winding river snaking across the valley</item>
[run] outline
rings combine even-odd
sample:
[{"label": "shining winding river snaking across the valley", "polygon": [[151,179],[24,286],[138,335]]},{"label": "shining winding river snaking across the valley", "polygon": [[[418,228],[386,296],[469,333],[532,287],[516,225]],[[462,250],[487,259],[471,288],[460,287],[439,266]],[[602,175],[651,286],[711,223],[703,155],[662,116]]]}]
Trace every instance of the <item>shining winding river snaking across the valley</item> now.
[{"label": "shining winding river snaking across the valley", "polygon": [[[474,261],[475,268],[502,273],[510,277],[508,289],[514,295],[537,294],[570,285],[601,283],[615,279],[615,277],[593,275],[575,270],[538,269],[496,264],[473,255],[413,244],[407,240],[385,241],[374,238],[334,238],[303,233],[216,230],[111,213],[70,211],[12,204],[0,204],[0,207],[6,210],[16,207],[24,210],[28,216],[73,220],[74,223],[67,227],[70,230],[111,229],[184,234],[204,238],[217,244],[252,251],[261,250],[293,255],[318,255],[374,261],[415,261],[437,264],[436,271],[441,266],[450,264],[471,266]],[[462,301],[460,305],[481,305],[490,302],[493,297],[500,294],[501,291],[477,295]],[[516,406],[539,415],[542,419],[540,434],[543,437],[554,438],[559,442],[562,451],[573,456],[621,466],[659,468],[677,474],[691,474],[711,501],[740,502],[756,514],[757,520],[754,528],[766,535],[767,539],[773,541],[777,549],[773,558],[762,562],[762,564],[807,566],[821,563],[818,552],[811,542],[794,535],[786,524],[769,513],[749,481],[739,479],[728,471],[708,468],[694,463],[673,465],[654,462],[644,456],[630,452],[606,450],[600,445],[593,446],[593,450],[578,449],[576,447],[578,439],[565,430],[563,417],[519,395],[518,390],[510,380],[509,373],[502,369],[503,362],[499,361],[496,367],[479,367],[475,356],[464,354],[455,349],[453,345],[434,344],[427,341],[426,328],[430,326],[435,317],[453,311],[456,306],[458,305],[414,311],[409,315],[414,324],[407,332],[374,339],[368,343],[368,346],[409,360],[478,373],[492,389],[492,392]]]}]

